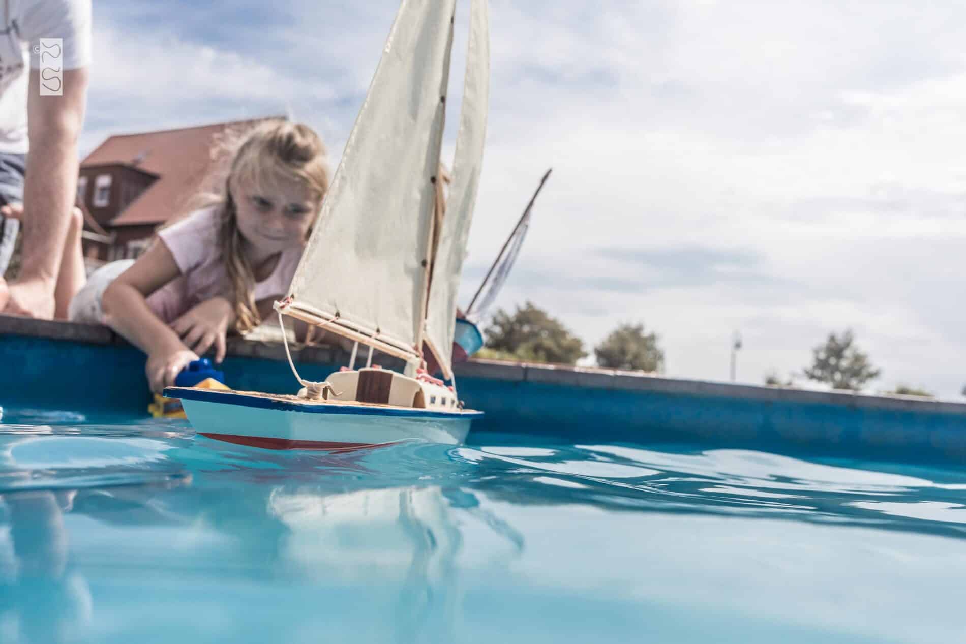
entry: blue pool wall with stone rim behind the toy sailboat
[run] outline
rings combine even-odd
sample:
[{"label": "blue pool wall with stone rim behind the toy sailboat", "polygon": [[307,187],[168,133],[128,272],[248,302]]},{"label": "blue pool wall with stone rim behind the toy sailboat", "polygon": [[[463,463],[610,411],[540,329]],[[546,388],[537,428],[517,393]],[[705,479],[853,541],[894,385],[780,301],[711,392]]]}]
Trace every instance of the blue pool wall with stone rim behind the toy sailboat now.
[{"label": "blue pool wall with stone rim behind the toy sailboat", "polygon": [[[12,322],[13,320],[13,322]],[[29,323],[28,323],[29,322]],[[235,341],[223,365],[236,389],[293,393],[280,345]],[[304,378],[346,363],[341,350],[296,351]],[[143,417],[144,354],[104,327],[0,316],[0,406]],[[395,366],[391,359],[384,366]],[[457,367],[473,435],[569,442],[687,442],[903,461],[963,462],[966,405],[475,361]]]}]

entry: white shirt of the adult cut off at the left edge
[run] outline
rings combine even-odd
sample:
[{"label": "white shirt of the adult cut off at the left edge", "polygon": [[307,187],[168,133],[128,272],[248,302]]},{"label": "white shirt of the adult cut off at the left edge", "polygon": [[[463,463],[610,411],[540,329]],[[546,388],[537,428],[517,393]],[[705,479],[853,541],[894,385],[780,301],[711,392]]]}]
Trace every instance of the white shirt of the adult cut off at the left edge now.
[{"label": "white shirt of the adult cut off at the left edge", "polygon": [[23,154],[29,149],[28,52],[30,68],[39,70],[34,45],[42,38],[60,38],[64,70],[90,65],[91,0],[0,0],[0,11],[0,153]]}]

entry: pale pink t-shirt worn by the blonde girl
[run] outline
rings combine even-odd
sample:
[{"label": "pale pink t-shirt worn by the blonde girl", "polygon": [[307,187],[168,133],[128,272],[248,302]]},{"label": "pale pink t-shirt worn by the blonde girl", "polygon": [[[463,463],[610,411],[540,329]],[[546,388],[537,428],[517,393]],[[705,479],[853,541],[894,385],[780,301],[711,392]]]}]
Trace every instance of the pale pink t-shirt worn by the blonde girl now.
[{"label": "pale pink t-shirt worn by the blonde girl", "polygon": [[[214,208],[195,210],[181,221],[161,229],[161,239],[181,275],[148,297],[156,316],[171,323],[189,309],[217,295],[232,297],[231,282],[218,251],[218,217]],[[282,251],[269,277],[255,283],[255,301],[286,294],[296,274],[302,248]]]}]

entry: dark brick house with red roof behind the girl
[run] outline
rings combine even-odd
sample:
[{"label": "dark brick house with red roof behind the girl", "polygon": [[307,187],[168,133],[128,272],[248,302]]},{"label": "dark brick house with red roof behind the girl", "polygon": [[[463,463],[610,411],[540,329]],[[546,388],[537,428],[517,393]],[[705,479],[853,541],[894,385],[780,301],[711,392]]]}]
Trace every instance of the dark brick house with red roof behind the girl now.
[{"label": "dark brick house with red roof behind the girl", "polygon": [[89,267],[133,258],[159,226],[207,187],[218,141],[262,119],[108,137],[80,163],[77,200],[85,210]]}]

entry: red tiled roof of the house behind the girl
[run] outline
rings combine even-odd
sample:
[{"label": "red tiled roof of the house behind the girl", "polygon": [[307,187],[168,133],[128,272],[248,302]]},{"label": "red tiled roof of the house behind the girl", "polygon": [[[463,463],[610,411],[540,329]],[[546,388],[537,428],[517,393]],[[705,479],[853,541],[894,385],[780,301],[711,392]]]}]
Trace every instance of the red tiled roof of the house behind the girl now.
[{"label": "red tiled roof of the house behind the girl", "polygon": [[216,136],[226,129],[263,120],[118,134],[101,143],[80,165],[120,163],[157,175],[156,182],[111,219],[108,225],[113,228],[161,224],[184,210],[201,187],[201,182],[211,169],[212,146]]}]

